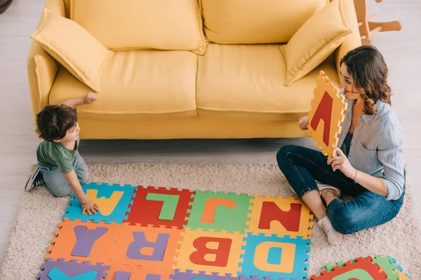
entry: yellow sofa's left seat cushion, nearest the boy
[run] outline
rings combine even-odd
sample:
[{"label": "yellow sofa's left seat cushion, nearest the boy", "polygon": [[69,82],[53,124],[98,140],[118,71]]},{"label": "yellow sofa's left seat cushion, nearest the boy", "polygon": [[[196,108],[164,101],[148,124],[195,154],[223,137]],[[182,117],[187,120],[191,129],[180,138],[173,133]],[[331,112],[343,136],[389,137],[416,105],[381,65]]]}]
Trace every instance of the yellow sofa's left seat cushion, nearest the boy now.
[{"label": "yellow sofa's left seat cushion, nearest the boy", "polygon": [[[83,104],[80,118],[136,120],[196,116],[197,56],[189,51],[116,51],[102,70],[101,90]],[[61,67],[50,104],[82,97],[90,89]]]}]

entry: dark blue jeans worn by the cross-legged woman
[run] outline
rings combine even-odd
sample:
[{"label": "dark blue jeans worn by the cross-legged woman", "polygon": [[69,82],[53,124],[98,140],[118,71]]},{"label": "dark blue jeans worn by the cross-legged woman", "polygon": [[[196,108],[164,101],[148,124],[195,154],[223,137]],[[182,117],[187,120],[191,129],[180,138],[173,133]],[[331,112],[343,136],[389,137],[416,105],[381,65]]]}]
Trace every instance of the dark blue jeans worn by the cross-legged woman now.
[{"label": "dark blue jeans worn by the cross-legged woman", "polygon": [[386,200],[349,179],[340,170],[333,172],[327,158],[320,151],[300,146],[283,146],[276,155],[279,169],[300,198],[312,190],[319,190],[316,181],[339,188],[344,195],[355,197],[344,202],[335,199],[326,214],[333,228],[342,234],[358,232],[392,220],[401,209],[403,193],[398,200]]}]

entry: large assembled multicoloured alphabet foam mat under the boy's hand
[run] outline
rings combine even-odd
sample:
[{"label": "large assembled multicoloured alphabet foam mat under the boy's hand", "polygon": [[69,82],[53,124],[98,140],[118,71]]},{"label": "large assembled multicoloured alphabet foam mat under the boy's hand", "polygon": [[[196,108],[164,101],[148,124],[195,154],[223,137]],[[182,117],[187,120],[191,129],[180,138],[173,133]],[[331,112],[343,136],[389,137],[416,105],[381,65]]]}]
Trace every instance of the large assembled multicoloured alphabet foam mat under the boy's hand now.
[{"label": "large assembled multicoloured alphabet foam mat under the boy's hand", "polygon": [[313,216],[295,198],[107,183],[72,195],[37,279],[307,278]]}]

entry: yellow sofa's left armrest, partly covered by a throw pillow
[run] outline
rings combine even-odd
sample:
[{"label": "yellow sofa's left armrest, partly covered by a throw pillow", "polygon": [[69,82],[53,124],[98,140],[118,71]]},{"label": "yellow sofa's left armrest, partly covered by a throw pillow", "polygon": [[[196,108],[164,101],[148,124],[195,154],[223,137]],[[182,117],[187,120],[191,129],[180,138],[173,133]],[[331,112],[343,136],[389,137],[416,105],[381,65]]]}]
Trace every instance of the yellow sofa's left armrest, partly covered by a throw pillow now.
[{"label": "yellow sofa's left armrest, partly covered by a throw pillow", "polygon": [[[63,17],[66,16],[63,0],[46,0],[44,8],[48,8],[48,10]],[[41,13],[39,24],[43,16],[44,13]],[[48,96],[59,66],[60,64],[51,55],[48,55],[41,44],[32,41],[27,58],[27,71],[34,122],[36,121],[36,114],[48,105]]]}]

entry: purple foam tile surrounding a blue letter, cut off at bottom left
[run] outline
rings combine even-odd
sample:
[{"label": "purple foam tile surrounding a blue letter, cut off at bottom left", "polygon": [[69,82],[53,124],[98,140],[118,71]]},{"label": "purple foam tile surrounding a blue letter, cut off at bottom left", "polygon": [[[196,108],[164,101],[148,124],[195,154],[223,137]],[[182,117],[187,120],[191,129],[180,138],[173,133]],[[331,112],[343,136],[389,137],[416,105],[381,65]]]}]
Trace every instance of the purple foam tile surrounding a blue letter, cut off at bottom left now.
[{"label": "purple foam tile surrounding a blue letter, cut off at bottom left", "polygon": [[78,263],[77,260],[67,262],[62,258],[59,258],[58,261],[54,261],[52,258],[48,258],[47,262],[44,263],[44,265],[41,265],[41,270],[43,272],[38,274],[36,279],[51,280],[50,277],[48,277],[48,272],[50,272],[53,268],[59,269],[63,274],[69,276],[70,278],[94,270],[97,274],[93,280],[101,280],[102,278],[107,278],[105,269],[109,269],[110,267],[109,265],[102,265],[100,262],[96,265],[91,265],[91,262]]}]

